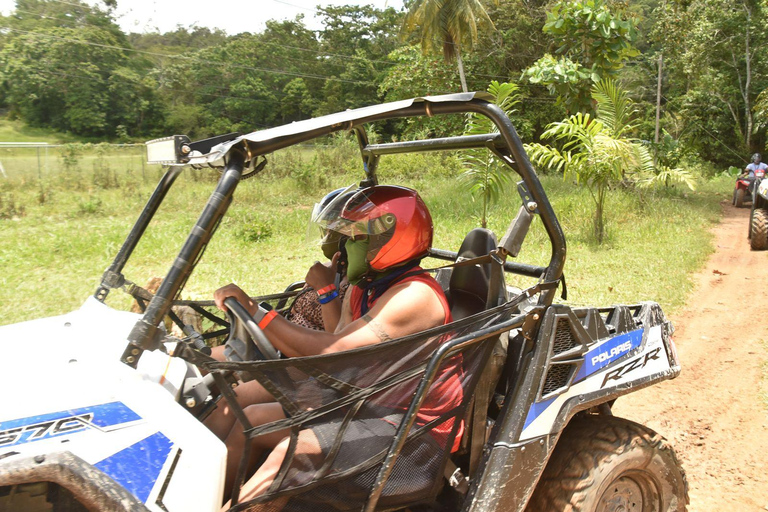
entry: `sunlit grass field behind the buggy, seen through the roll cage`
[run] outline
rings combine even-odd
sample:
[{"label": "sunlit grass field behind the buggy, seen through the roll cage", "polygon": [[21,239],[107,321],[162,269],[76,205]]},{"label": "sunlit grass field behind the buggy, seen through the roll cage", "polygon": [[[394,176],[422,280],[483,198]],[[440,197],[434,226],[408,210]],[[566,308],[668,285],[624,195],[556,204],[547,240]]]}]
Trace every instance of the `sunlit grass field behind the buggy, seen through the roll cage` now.
[{"label": "sunlit grass field behind the buggy, seen through the roll cage", "polygon": [[[359,167],[354,152],[346,151],[305,148],[275,155],[263,176],[241,183],[183,298],[210,298],[228,282],[259,294],[303,279],[321,257],[306,237],[312,205],[362,177],[339,170]],[[403,158],[382,160],[380,181],[418,189],[435,220],[435,246],[455,251],[479,225],[480,210],[456,178],[458,164],[451,156]],[[71,311],[95,291],[161,173],[124,162],[83,154],[75,168],[57,165],[42,180],[34,172],[22,179],[0,177],[0,324]],[[127,279],[144,285],[165,275],[217,176],[215,170],[184,172],[129,261]],[[590,235],[588,192],[559,176],[543,182],[567,237],[568,302],[655,300],[667,311],[684,303],[690,274],[711,252],[708,228],[718,222],[719,202],[731,186],[711,181],[687,194],[616,189],[608,199],[606,242],[597,246]],[[498,234],[514,217],[519,197],[511,192],[502,203],[489,225]],[[518,260],[544,265],[549,251],[535,221]],[[508,282],[530,283],[514,276]],[[113,291],[108,303],[125,308],[130,301]]]}]

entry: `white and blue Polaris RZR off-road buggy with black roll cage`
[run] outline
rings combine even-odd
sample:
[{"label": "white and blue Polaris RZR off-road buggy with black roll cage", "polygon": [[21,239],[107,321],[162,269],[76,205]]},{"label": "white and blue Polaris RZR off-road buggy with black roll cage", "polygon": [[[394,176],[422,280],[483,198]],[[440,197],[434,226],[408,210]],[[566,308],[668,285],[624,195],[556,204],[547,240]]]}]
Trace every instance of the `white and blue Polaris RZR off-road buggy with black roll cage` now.
[{"label": "white and blue Polaris RZR off-road buggy with black roll cage", "polygon": [[[369,123],[465,113],[488,117],[497,131],[382,144],[366,135]],[[359,142],[362,186],[378,182],[386,155],[487,150],[522,178],[519,199],[504,198],[516,215],[500,241],[476,229],[456,252],[432,249],[432,257],[458,262],[437,272],[453,323],[349,352],[270,359],[268,339],[247,312],[231,307],[225,321],[211,314],[210,302],[177,299],[235,189],[268,171],[265,155],[339,131]],[[148,159],[167,164],[167,172],[93,297],[73,313],[0,329],[0,510],[218,510],[230,498],[222,496],[226,450],[201,419],[222,400],[251,438],[291,432],[266,494],[237,504],[236,485],[232,510],[685,510],[685,474],[670,445],[611,414],[619,396],[678,375],[672,327],[652,302],[553,304],[565,289],[565,238],[514,127],[485,95],[416,98],[198,142],[174,136],[148,143]],[[123,269],[190,167],[221,176],[151,294]],[[535,217],[551,243],[546,266],[512,260]],[[513,288],[521,277],[530,286]],[[106,306],[115,289],[133,295],[143,314]],[[257,300],[284,311],[295,296]],[[189,325],[181,338],[166,332],[165,317],[183,323],[174,312],[182,305],[219,331],[244,327],[250,338],[230,336],[232,360],[216,362],[205,338],[221,332]],[[457,360],[463,400],[433,421],[417,421],[441,368]],[[250,379],[273,393],[288,419],[251,428],[234,397]],[[396,431],[366,437],[355,424],[387,394],[408,400],[388,412]],[[314,425],[332,432],[319,458],[301,449]],[[445,426],[448,439],[433,435]],[[452,452],[460,426],[460,448]]]}]

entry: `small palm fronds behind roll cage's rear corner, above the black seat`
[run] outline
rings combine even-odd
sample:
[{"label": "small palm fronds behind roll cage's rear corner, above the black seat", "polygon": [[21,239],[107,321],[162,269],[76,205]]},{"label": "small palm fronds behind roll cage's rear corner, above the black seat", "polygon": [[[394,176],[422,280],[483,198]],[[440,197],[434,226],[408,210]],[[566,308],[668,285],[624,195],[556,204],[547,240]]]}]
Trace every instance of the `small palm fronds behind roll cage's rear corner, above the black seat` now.
[{"label": "small palm fronds behind roll cage's rear corner, above the black seat", "polygon": [[[488,92],[493,96],[493,103],[511,117],[520,103],[521,96],[517,84],[492,81]],[[482,135],[498,133],[496,125],[487,117],[470,114],[464,128],[464,135]],[[480,225],[488,226],[488,209],[496,203],[512,182],[509,167],[500,162],[498,157],[487,149],[474,149],[461,153],[461,161],[466,170],[461,179],[469,186],[472,199],[478,197],[482,202]]]}]

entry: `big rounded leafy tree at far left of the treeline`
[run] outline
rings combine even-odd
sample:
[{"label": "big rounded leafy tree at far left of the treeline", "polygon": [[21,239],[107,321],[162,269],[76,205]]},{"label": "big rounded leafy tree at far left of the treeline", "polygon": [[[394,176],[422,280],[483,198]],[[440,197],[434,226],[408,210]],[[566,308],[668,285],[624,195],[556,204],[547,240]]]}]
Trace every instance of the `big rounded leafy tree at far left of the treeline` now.
[{"label": "big rounded leafy tree at far left of the treeline", "polygon": [[161,119],[157,84],[111,12],[78,2],[24,0],[0,46],[0,100],[31,126],[80,136],[147,133]]}]

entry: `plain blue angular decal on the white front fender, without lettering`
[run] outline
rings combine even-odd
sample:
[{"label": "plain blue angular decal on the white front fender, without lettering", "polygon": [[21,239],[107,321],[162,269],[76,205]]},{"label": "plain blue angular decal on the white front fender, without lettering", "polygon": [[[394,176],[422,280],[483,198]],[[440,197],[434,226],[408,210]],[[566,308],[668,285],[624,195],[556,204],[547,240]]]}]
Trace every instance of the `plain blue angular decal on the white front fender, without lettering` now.
[{"label": "plain blue angular decal on the white front fender, without lettering", "polygon": [[171,448],[171,440],[156,432],[94,466],[144,503],[160,476]]}]

